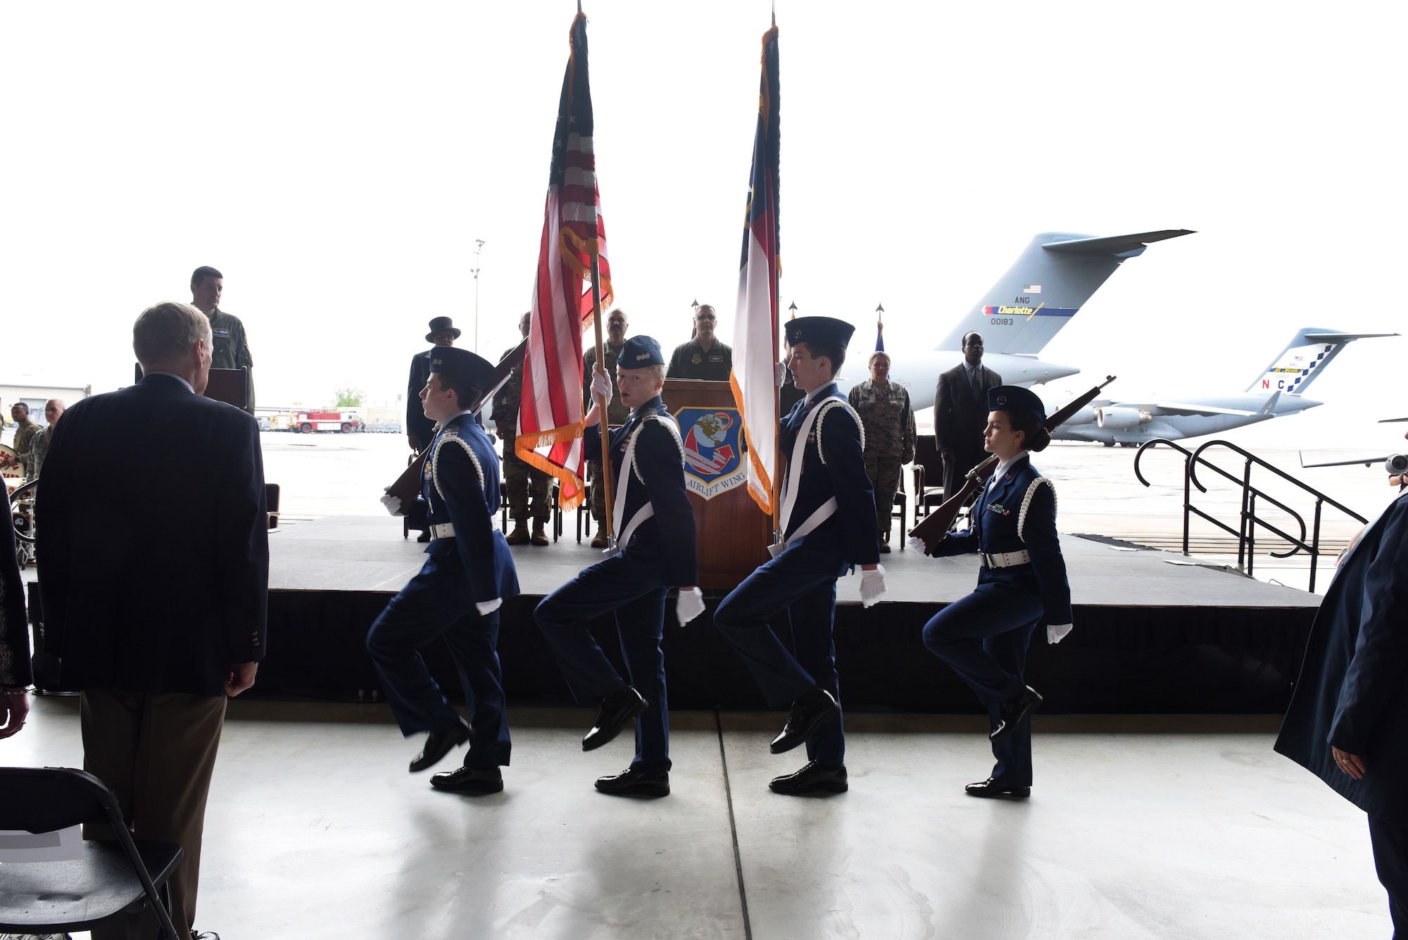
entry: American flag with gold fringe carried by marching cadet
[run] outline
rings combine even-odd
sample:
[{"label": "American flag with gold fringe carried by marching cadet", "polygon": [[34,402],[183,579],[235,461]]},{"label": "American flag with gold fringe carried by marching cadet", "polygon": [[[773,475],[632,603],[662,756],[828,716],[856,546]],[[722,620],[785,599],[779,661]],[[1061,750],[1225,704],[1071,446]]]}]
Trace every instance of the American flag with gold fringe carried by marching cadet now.
[{"label": "American flag with gold fringe carried by marching cadet", "polygon": [[607,229],[591,152],[587,18],[582,13],[572,21],[570,42],[558,127],[552,132],[552,169],[514,445],[525,462],[562,480],[563,509],[577,507],[583,497],[582,331],[591,325],[593,249],[598,256],[601,303],[611,298]]}]

